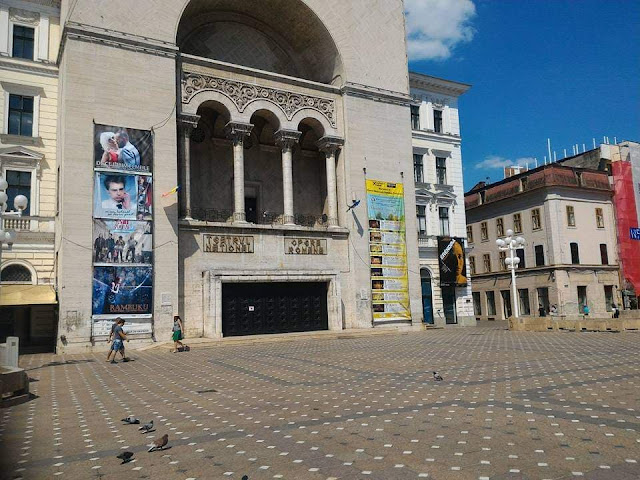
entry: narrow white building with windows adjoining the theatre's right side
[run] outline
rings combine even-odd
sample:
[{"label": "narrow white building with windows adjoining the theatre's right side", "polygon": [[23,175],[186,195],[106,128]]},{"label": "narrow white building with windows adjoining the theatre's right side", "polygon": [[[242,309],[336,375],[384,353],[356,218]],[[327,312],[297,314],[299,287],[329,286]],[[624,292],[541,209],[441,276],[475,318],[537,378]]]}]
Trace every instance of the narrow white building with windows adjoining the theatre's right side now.
[{"label": "narrow white building with windows adjoining the theatre's right side", "polygon": [[409,82],[424,321],[474,324],[471,283],[441,286],[438,260],[439,237],[466,238],[458,98],[470,85],[414,72]]}]

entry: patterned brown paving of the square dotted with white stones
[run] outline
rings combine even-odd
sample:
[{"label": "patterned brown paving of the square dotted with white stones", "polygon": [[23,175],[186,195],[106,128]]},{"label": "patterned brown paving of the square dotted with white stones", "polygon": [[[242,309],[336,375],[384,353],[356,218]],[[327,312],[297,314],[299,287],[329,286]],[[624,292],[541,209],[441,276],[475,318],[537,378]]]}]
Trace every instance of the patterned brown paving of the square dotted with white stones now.
[{"label": "patterned brown paving of the square dotted with white stones", "polygon": [[[639,340],[494,324],[149,350],[118,365],[25,356],[37,398],[0,410],[0,475],[638,479]],[[130,414],[156,431],[123,425]],[[148,453],[164,433],[170,448]],[[124,451],[134,461],[121,465]]]}]

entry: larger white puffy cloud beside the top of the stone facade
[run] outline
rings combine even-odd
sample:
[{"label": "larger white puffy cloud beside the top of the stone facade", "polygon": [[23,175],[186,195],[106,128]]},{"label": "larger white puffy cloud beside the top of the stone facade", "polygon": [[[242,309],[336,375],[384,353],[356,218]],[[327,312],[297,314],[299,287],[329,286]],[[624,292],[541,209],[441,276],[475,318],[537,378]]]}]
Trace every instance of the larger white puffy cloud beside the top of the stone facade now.
[{"label": "larger white puffy cloud beside the top of the stone facade", "polygon": [[444,60],[473,38],[472,0],[405,0],[410,60]]}]

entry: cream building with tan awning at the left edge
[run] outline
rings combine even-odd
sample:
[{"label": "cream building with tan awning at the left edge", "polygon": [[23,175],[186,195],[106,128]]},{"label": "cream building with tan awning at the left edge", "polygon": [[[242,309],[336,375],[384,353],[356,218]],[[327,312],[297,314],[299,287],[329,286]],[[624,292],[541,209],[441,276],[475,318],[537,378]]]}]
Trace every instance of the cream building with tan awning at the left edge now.
[{"label": "cream building with tan awning at the left edge", "polygon": [[0,173],[29,206],[5,216],[17,232],[2,251],[0,337],[17,335],[21,351],[54,345],[56,294],[56,123],[60,2],[0,2]]}]

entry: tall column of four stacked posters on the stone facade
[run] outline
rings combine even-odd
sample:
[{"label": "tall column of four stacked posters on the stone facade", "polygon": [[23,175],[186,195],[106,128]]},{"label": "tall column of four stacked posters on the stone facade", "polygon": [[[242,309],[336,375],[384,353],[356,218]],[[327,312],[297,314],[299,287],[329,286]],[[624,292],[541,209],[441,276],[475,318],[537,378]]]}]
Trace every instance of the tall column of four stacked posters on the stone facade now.
[{"label": "tall column of four stacked posters on the stone facade", "polygon": [[152,334],[153,134],[94,125],[93,336]]}]

